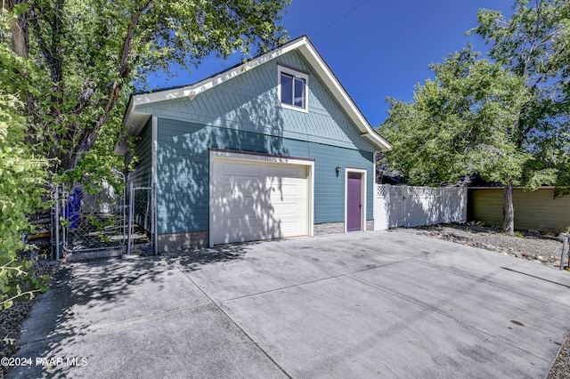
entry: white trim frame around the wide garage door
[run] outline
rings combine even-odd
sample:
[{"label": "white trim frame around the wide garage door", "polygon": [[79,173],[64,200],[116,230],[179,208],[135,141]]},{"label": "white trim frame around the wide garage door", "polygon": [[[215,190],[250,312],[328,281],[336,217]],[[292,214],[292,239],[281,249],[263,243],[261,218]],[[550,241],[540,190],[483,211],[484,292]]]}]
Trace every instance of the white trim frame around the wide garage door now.
[{"label": "white trim frame around the wide garage door", "polygon": [[307,230],[308,237],[314,236],[314,159],[303,157],[284,157],[264,153],[253,153],[248,151],[235,151],[229,149],[209,149],[209,226],[208,235],[209,247],[214,247],[214,234],[212,228],[214,226],[214,212],[212,192],[214,189],[214,161],[232,161],[244,163],[260,163],[260,164],[283,164],[283,165],[297,165],[305,167],[307,172]]}]

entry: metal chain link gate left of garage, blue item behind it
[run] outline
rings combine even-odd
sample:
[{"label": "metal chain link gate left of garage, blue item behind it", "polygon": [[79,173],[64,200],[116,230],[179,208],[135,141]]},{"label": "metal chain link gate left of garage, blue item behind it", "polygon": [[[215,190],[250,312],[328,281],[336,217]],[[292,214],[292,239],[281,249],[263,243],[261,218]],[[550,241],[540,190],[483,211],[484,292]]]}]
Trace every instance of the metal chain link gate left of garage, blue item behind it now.
[{"label": "metal chain link gate left of garage, blue item behind it", "polygon": [[53,191],[55,259],[65,254],[119,250],[131,254],[157,254],[156,186],[126,184],[115,172],[107,179],[84,175]]}]

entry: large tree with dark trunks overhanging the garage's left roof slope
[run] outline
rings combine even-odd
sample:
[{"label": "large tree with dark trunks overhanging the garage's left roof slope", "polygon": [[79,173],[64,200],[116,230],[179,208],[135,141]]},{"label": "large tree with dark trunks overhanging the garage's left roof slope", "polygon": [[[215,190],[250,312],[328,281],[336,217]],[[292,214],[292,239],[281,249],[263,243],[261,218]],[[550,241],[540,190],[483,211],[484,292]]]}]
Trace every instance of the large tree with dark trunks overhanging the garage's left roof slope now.
[{"label": "large tree with dark trunks overhanging the garage's left roof slope", "polygon": [[[8,0],[3,2],[2,60],[34,62],[14,74],[37,93],[21,92],[30,142],[75,168],[103,125],[118,138],[133,85],[174,63],[191,69],[211,54],[247,56],[283,41],[288,0]],[[7,49],[9,46],[10,49]],[[110,122],[111,121],[111,122]],[[117,141],[117,140],[115,140]],[[107,146],[109,145],[107,141]],[[104,149],[102,149],[104,150]],[[101,163],[109,158],[103,157]],[[97,166],[97,165],[95,165]]]}]

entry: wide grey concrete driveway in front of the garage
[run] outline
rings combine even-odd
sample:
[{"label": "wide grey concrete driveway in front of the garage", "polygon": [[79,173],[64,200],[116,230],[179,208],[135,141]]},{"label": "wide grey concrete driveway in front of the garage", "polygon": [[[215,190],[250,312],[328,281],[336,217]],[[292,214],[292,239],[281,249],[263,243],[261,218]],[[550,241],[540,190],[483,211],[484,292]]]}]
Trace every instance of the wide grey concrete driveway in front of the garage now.
[{"label": "wide grey concrete driveway in front of the garage", "polygon": [[566,271],[410,230],[66,264],[10,375],[539,378],[569,289]]}]

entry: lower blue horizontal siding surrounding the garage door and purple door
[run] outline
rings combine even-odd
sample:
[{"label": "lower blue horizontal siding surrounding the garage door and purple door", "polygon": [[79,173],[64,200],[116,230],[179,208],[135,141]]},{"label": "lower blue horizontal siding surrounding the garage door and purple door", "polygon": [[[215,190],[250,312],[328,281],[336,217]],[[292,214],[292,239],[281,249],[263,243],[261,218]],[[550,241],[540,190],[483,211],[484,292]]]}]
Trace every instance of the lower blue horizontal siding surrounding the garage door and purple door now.
[{"label": "lower blue horizontal siding surrounding the garage door and purple door", "polygon": [[[344,222],[344,169],[366,169],[366,218],[373,217],[372,151],[283,138],[279,133],[254,133],[159,118],[160,234],[209,230],[209,148],[314,159],[314,223]],[[342,168],[338,176],[337,166]]]}]

